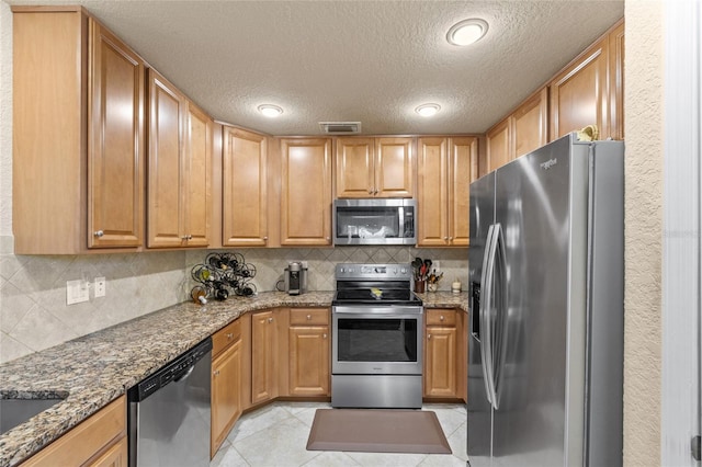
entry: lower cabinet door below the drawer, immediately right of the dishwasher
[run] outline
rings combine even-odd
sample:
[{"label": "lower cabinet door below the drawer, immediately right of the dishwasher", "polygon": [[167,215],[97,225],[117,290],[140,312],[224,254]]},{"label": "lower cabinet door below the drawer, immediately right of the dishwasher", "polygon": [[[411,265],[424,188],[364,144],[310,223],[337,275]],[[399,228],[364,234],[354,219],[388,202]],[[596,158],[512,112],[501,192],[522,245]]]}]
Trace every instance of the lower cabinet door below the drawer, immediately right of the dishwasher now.
[{"label": "lower cabinet door below the drawer, immediately right of the dishwasher", "polygon": [[210,457],[241,415],[241,341],[231,344],[212,362],[212,443]]}]

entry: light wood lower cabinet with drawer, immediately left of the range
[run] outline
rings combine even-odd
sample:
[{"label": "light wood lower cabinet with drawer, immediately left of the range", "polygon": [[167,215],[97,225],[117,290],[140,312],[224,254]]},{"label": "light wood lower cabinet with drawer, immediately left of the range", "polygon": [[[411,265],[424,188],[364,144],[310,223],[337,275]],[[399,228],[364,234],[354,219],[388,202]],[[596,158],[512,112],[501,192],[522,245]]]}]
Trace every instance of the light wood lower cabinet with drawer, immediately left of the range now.
[{"label": "light wood lower cabinet with drawer, immediately left of the range", "polygon": [[329,308],[290,310],[290,396],[330,396]]}]

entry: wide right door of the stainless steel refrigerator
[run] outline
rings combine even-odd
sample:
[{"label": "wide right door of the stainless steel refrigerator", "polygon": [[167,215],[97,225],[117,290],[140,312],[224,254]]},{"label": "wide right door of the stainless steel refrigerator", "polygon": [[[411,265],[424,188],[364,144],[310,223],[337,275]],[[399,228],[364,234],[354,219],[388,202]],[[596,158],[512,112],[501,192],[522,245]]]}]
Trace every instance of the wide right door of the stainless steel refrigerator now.
[{"label": "wide right door of the stainless steel refrigerator", "polygon": [[[568,465],[570,147],[562,138],[497,171],[509,342],[494,413],[492,466]],[[587,180],[587,158],[585,168]],[[587,205],[580,212],[587,218]]]}]

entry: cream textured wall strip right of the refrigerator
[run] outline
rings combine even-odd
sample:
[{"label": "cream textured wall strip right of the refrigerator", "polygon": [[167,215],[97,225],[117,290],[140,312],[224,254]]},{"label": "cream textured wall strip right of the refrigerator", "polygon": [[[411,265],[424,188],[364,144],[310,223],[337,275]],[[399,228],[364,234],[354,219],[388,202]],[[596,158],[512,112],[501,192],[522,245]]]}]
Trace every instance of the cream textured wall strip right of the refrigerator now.
[{"label": "cream textured wall strip right of the refrigerator", "polygon": [[625,5],[624,462],[660,464],[663,2]]}]

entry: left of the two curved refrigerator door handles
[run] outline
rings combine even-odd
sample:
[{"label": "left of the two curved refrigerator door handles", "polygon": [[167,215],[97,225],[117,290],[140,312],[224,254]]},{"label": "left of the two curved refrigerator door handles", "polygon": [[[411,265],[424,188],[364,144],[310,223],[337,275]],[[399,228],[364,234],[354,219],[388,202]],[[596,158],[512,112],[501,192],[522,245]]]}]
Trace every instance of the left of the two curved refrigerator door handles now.
[{"label": "left of the two curved refrigerator door handles", "polygon": [[483,361],[485,392],[487,400],[495,407],[495,377],[492,361],[492,330],[491,330],[491,312],[494,303],[494,280],[495,280],[495,254],[496,254],[496,225],[492,224],[488,228],[487,241],[485,244],[485,255],[483,257],[483,277],[482,289],[484,291],[480,300],[480,330],[483,339],[480,340],[480,356]]}]

